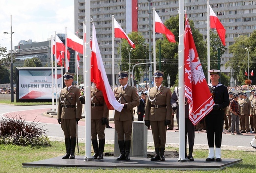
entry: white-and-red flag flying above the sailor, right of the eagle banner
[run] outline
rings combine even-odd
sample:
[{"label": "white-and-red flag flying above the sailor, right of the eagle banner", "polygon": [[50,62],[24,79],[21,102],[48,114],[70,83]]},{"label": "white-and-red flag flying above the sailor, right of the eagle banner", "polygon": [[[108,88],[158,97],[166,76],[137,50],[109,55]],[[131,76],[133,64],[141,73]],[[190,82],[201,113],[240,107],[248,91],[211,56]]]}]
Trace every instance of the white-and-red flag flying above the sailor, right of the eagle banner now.
[{"label": "white-and-red flag flying above the sailor, right of the eagle banner", "polygon": [[222,41],[222,44],[226,46],[226,29],[223,27],[222,23],[214,13],[213,9],[210,8],[210,28],[216,28],[216,31]]}]

